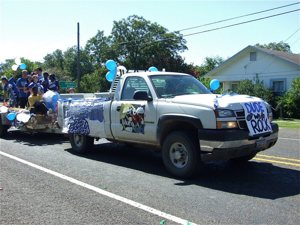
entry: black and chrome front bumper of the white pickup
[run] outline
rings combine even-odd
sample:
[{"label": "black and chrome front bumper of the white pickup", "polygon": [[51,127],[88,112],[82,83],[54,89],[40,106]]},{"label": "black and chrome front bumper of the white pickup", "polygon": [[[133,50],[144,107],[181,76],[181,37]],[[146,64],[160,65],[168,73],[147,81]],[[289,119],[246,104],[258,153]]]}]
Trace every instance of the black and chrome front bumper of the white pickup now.
[{"label": "black and chrome front bumper of the white pickup", "polygon": [[[202,161],[237,158],[261,152],[274,146],[278,139],[278,125],[271,123],[272,133],[249,136],[246,130],[198,130]],[[265,147],[256,148],[257,140],[266,140]]]}]

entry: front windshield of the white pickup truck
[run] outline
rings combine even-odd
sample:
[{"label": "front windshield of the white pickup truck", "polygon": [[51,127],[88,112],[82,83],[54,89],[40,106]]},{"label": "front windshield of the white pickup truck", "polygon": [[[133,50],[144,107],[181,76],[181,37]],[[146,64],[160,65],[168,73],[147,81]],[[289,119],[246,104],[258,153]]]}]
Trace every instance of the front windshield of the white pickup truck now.
[{"label": "front windshield of the white pickup truck", "polygon": [[173,98],[177,95],[211,94],[199,80],[188,75],[153,75],[152,84],[159,98]]}]

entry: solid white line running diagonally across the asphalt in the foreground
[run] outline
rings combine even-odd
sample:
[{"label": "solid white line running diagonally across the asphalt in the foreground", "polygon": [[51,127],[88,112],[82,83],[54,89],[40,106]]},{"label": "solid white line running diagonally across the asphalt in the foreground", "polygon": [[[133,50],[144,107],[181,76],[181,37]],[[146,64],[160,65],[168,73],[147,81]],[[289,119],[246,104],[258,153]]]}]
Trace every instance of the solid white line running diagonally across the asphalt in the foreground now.
[{"label": "solid white line running diagonally across the asphalt in the foreground", "polygon": [[147,212],[150,212],[150,213],[152,213],[152,214],[158,215],[158,216],[160,216],[160,217],[164,217],[164,218],[166,218],[166,219],[168,219],[168,220],[172,220],[172,221],[174,221],[174,222],[176,222],[176,223],[185,224],[185,225],[187,225],[187,224],[197,225],[196,223],[191,223],[191,222],[189,222],[189,221],[187,221],[187,220],[184,220],[184,219],[182,219],[182,218],[179,218],[179,217],[176,217],[176,216],[173,216],[173,215],[164,213],[164,212],[159,211],[159,210],[157,210],[157,209],[155,209],[155,208],[151,208],[151,207],[149,207],[149,206],[147,206],[147,205],[143,205],[143,204],[140,204],[140,203],[138,203],[138,202],[134,202],[134,201],[132,201],[132,200],[130,200],[130,199],[123,198],[122,196],[119,196],[119,195],[110,193],[110,192],[108,192],[108,191],[106,191],[106,190],[100,189],[100,188],[98,188],[98,187],[91,186],[91,185],[86,184],[86,183],[83,183],[83,182],[81,182],[81,181],[79,181],[79,180],[73,179],[73,178],[68,177],[68,176],[65,176],[65,175],[63,175],[63,174],[61,174],[61,173],[57,173],[57,172],[55,172],[55,171],[52,171],[52,170],[46,169],[46,168],[44,168],[44,167],[38,166],[38,165],[33,164],[33,163],[31,163],[31,162],[28,162],[28,161],[26,161],[26,160],[17,158],[17,157],[15,157],[15,156],[13,156],[13,155],[9,155],[9,154],[7,154],[7,153],[5,153],[5,152],[1,152],[1,151],[0,151],[0,154],[1,154],[1,155],[4,155],[4,156],[7,156],[7,157],[9,157],[9,158],[12,158],[12,159],[14,159],[14,160],[16,160],[16,161],[19,161],[19,162],[21,162],[21,163],[27,164],[27,165],[29,165],[29,166],[31,166],[31,167],[34,167],[34,168],[38,169],[38,170],[41,170],[41,171],[44,171],[44,172],[49,173],[49,174],[51,174],[51,175],[57,176],[57,177],[59,177],[59,178],[61,178],[61,179],[67,180],[67,181],[72,182],[72,183],[74,183],[74,184],[77,184],[77,185],[80,185],[80,186],[82,186],[82,187],[86,187],[86,188],[88,188],[88,189],[90,189],[90,190],[96,191],[96,192],[98,192],[98,193],[100,193],[100,194],[102,194],[102,195],[105,195],[105,196],[108,196],[108,197],[110,197],[110,198],[119,200],[119,201],[121,201],[121,202],[124,202],[124,203],[126,203],[126,204],[132,205],[132,206],[134,206],[134,207],[143,209],[143,210],[145,210],[145,211],[147,211]]}]

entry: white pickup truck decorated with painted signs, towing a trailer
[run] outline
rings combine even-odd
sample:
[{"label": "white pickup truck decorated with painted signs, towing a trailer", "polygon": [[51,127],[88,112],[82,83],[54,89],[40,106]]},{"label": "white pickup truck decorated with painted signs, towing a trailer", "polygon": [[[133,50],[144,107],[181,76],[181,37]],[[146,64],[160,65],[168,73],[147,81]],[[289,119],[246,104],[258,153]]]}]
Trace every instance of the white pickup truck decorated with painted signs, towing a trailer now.
[{"label": "white pickup truck decorated with painted signs, towing a trailer", "polygon": [[152,148],[173,176],[187,178],[203,161],[248,161],[278,138],[267,102],[213,94],[184,73],[116,70],[104,97],[58,100],[58,126],[77,153],[94,138]]}]

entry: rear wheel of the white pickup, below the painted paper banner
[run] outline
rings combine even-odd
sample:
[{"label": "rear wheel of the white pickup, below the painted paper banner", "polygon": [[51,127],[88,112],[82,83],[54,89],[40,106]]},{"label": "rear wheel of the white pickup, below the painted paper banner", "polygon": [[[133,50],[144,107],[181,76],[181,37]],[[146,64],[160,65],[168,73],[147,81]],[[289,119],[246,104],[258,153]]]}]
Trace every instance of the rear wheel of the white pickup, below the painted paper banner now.
[{"label": "rear wheel of the white pickup, below the painted paper banner", "polygon": [[85,154],[94,146],[94,138],[82,134],[70,134],[70,143],[74,152]]}]

